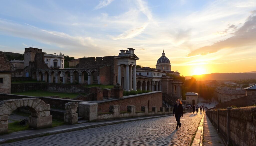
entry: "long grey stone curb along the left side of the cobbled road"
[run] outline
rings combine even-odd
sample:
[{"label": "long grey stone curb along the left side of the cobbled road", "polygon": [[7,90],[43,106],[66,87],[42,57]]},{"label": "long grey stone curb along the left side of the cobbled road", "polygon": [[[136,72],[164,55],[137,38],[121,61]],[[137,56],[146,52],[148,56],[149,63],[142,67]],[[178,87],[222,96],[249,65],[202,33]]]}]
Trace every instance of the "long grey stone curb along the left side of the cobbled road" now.
[{"label": "long grey stone curb along the left side of the cobbled road", "polygon": [[[187,112],[187,113],[191,113],[191,112]],[[184,114],[187,114],[187,113],[184,113]],[[125,122],[132,122],[132,121],[138,121],[138,120],[146,120],[146,119],[167,117],[167,116],[172,116],[172,115],[173,114],[158,115],[158,116],[151,116],[151,117],[136,117],[136,118],[130,118],[130,119],[118,119],[116,121],[99,121],[98,123],[92,123],[92,124],[89,124],[89,125],[82,125],[82,124],[84,124],[84,123],[82,123],[82,124],[70,125],[70,126],[74,126],[74,127],[71,127],[71,128],[63,128],[63,129],[57,129],[57,130],[51,130],[51,128],[49,128],[49,129],[45,129],[45,131],[42,131],[42,132],[37,132],[37,133],[32,133],[32,134],[27,134],[27,135],[24,135],[24,133],[23,133],[24,136],[15,136],[15,137],[13,137],[13,136],[11,136],[12,133],[4,134],[4,135],[0,136],[0,144],[5,143],[6,141],[19,141],[19,140],[25,140],[25,139],[31,139],[31,138],[51,135],[51,134],[58,134],[58,133],[75,131],[75,130],[83,130],[83,129],[88,129],[88,128],[95,128],[95,127],[100,127],[100,126],[106,126],[106,125],[112,125],[112,124],[118,124],[118,123],[125,123]],[[43,129],[40,129],[40,130],[43,130]],[[19,132],[24,132],[24,131],[19,131]],[[22,134],[19,134],[19,135],[22,135]]]}]

